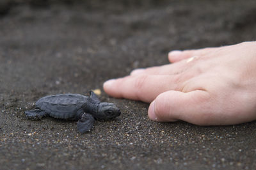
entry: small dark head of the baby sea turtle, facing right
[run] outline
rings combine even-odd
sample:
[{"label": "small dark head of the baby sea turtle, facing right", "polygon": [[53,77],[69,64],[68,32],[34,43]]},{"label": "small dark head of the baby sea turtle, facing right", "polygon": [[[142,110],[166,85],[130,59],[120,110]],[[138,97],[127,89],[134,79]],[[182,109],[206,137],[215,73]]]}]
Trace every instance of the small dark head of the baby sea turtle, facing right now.
[{"label": "small dark head of the baby sea turtle, facing right", "polygon": [[99,104],[98,112],[93,114],[97,119],[111,119],[120,116],[121,112],[115,104],[102,102]]}]

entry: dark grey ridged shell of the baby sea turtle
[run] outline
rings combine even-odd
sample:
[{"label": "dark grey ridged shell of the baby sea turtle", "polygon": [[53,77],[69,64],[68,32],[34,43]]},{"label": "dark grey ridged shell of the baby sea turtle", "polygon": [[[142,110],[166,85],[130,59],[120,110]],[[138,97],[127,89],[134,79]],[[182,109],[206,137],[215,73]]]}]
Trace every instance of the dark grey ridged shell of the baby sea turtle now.
[{"label": "dark grey ridged shell of the baby sea turtle", "polygon": [[83,114],[83,104],[88,97],[78,94],[60,94],[42,97],[36,102],[36,107],[47,112],[54,118],[76,118]]}]

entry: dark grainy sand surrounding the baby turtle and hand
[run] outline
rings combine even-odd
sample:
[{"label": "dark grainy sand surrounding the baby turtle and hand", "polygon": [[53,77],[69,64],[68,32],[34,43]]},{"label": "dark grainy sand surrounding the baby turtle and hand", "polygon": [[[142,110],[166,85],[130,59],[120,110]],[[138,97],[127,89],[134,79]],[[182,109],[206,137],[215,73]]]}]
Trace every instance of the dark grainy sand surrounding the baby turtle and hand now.
[{"label": "dark grainy sand surrounding the baby turtle and hand", "polygon": [[156,123],[148,104],[106,93],[101,100],[122,115],[87,134],[74,121],[24,116],[45,95],[87,94],[134,68],[166,64],[169,50],[255,40],[254,0],[1,2],[0,169],[256,168],[255,121]]}]

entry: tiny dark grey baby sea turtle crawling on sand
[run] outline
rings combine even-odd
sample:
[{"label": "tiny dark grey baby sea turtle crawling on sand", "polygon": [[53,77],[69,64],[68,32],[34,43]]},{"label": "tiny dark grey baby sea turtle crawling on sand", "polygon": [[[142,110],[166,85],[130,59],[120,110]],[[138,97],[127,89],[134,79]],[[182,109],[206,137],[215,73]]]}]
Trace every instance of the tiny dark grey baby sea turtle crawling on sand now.
[{"label": "tiny dark grey baby sea turtle crawling on sand", "polygon": [[90,91],[90,97],[79,94],[42,97],[35,105],[36,109],[25,111],[26,118],[40,120],[44,116],[51,116],[65,120],[78,120],[77,130],[81,133],[90,131],[95,119],[111,119],[121,114],[115,104],[100,102],[93,91]]}]

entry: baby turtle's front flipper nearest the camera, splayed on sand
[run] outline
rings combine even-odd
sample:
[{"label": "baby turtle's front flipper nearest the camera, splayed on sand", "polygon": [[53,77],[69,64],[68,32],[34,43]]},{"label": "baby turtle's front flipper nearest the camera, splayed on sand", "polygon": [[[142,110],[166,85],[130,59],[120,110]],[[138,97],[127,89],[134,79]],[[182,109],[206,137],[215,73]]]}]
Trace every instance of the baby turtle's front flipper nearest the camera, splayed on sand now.
[{"label": "baby turtle's front flipper nearest the camera, splayed on sand", "polygon": [[93,127],[94,121],[95,120],[91,114],[84,112],[82,118],[77,121],[77,130],[82,134],[84,132],[89,132]]}]

